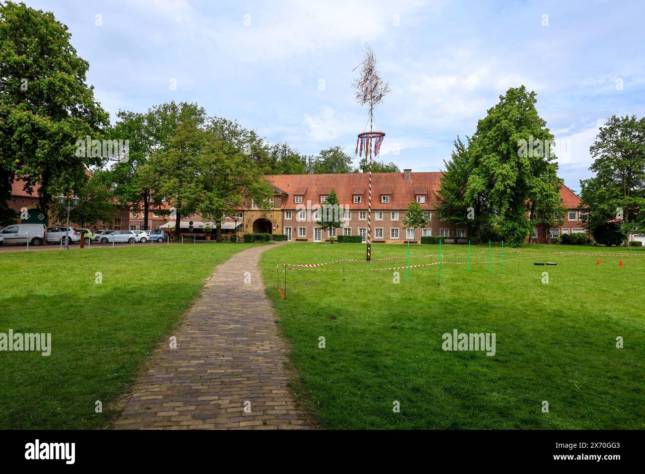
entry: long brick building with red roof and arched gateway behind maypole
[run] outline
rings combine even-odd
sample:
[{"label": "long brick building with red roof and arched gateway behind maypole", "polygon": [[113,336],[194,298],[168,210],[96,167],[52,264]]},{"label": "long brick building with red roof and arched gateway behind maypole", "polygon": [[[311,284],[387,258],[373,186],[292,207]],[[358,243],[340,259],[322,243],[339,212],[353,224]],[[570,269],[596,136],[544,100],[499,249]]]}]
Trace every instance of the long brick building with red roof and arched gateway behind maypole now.
[{"label": "long brick building with red roof and arched gateway behind maypole", "polygon": [[[467,226],[442,222],[437,213],[435,192],[439,191],[441,172],[372,174],[372,242],[419,242],[422,235],[470,237]],[[344,227],[336,235],[367,235],[368,175],[366,173],[321,175],[270,175],[275,191],[270,210],[260,210],[257,203],[241,210],[243,232],[284,233],[292,241],[328,241],[327,231],[317,229],[317,205],[332,188],[344,207]],[[544,243],[562,233],[585,232],[578,210],[581,201],[566,186],[560,190],[562,203],[568,209],[564,224],[557,228],[539,227],[533,231],[533,242]],[[423,229],[406,229],[403,225],[408,204],[412,201],[426,213],[428,225]]]}]

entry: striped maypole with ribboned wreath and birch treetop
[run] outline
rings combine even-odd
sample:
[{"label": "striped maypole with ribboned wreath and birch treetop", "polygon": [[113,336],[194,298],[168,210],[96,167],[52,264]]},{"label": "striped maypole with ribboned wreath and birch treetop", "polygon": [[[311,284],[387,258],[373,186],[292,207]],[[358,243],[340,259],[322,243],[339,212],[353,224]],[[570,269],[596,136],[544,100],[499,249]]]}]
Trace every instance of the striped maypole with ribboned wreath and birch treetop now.
[{"label": "striped maypole with ribboned wreath and birch treetop", "polygon": [[365,58],[359,64],[361,74],[354,83],[357,102],[361,105],[367,104],[370,113],[370,131],[359,133],[356,141],[356,152],[354,153],[355,155],[364,156],[368,161],[367,261],[370,261],[372,253],[372,155],[374,157],[379,156],[381,144],[385,137],[384,132],[374,131],[374,106],[379,104],[383,97],[390,92],[390,86],[382,81],[381,75],[376,69],[378,62],[372,48],[366,45]]}]

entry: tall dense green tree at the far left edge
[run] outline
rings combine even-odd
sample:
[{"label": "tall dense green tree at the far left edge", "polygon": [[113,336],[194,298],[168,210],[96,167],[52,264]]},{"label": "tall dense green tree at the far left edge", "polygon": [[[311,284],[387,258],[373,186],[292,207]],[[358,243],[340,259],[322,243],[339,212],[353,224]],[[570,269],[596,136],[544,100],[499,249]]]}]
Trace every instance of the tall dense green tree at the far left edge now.
[{"label": "tall dense green tree at the far left edge", "polygon": [[0,221],[14,179],[39,184],[39,207],[86,181],[101,157],[77,157],[76,141],[100,138],[108,114],[86,84],[89,64],[78,57],[67,27],[51,12],[0,3]]}]

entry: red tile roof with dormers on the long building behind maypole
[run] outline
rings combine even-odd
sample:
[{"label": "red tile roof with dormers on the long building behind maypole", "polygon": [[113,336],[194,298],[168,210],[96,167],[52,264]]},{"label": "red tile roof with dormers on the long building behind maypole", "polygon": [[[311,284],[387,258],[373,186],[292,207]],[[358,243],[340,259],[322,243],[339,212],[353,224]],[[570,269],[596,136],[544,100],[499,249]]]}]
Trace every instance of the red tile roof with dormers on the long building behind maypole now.
[{"label": "red tile roof with dormers on the long building behind maypole", "polygon": [[[441,172],[412,173],[412,180],[404,181],[403,173],[372,173],[372,209],[403,210],[417,195],[425,195],[426,202],[421,204],[424,210],[437,208],[435,192],[439,192]],[[267,176],[274,186],[289,194],[283,209],[295,210],[297,204],[293,196],[302,195],[303,204],[320,204],[320,196],[326,195],[333,188],[341,204],[349,209],[365,209],[369,175],[367,173],[339,173],[319,175],[270,175]],[[364,190],[364,193],[363,193]],[[353,195],[363,195],[360,204],[354,204]],[[390,202],[381,202],[381,195],[390,195]],[[560,189],[562,202],[567,208],[577,208],[580,198],[569,188],[562,185]]]}]

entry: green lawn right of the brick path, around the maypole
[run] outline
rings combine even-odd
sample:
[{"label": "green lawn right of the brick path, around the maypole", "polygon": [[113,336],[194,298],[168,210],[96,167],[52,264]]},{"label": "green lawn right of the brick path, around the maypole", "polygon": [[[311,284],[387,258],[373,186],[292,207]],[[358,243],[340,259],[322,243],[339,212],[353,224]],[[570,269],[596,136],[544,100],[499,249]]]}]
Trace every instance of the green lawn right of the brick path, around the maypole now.
[{"label": "green lawn right of the brick path, around the maypole", "polygon": [[[493,248],[495,261],[500,250]],[[496,262],[490,272],[488,246],[473,247],[478,263],[469,275],[466,264],[447,263],[468,261],[450,255],[468,248],[444,246],[441,285],[438,265],[412,268],[409,281],[406,270],[397,270],[399,284],[392,270],[350,271],[402,266],[405,259],[345,262],[344,274],[289,270],[283,300],[277,262],[363,260],[365,246],[299,243],[268,250],[261,266],[278,324],[292,342],[300,375],[294,391],[323,428],[644,428],[645,252],[556,245],[521,251],[552,255],[506,249],[504,270]],[[438,246],[412,246],[410,264],[437,262],[421,255],[438,252]],[[597,252],[611,256],[583,255]],[[373,259],[405,254],[405,246],[372,246]],[[557,266],[533,265],[539,261]],[[342,270],[343,264],[319,268]],[[284,288],[282,266],[279,276]],[[442,335],[455,328],[495,333],[495,355],[442,350]],[[395,400],[400,413],[393,413]]]}]

